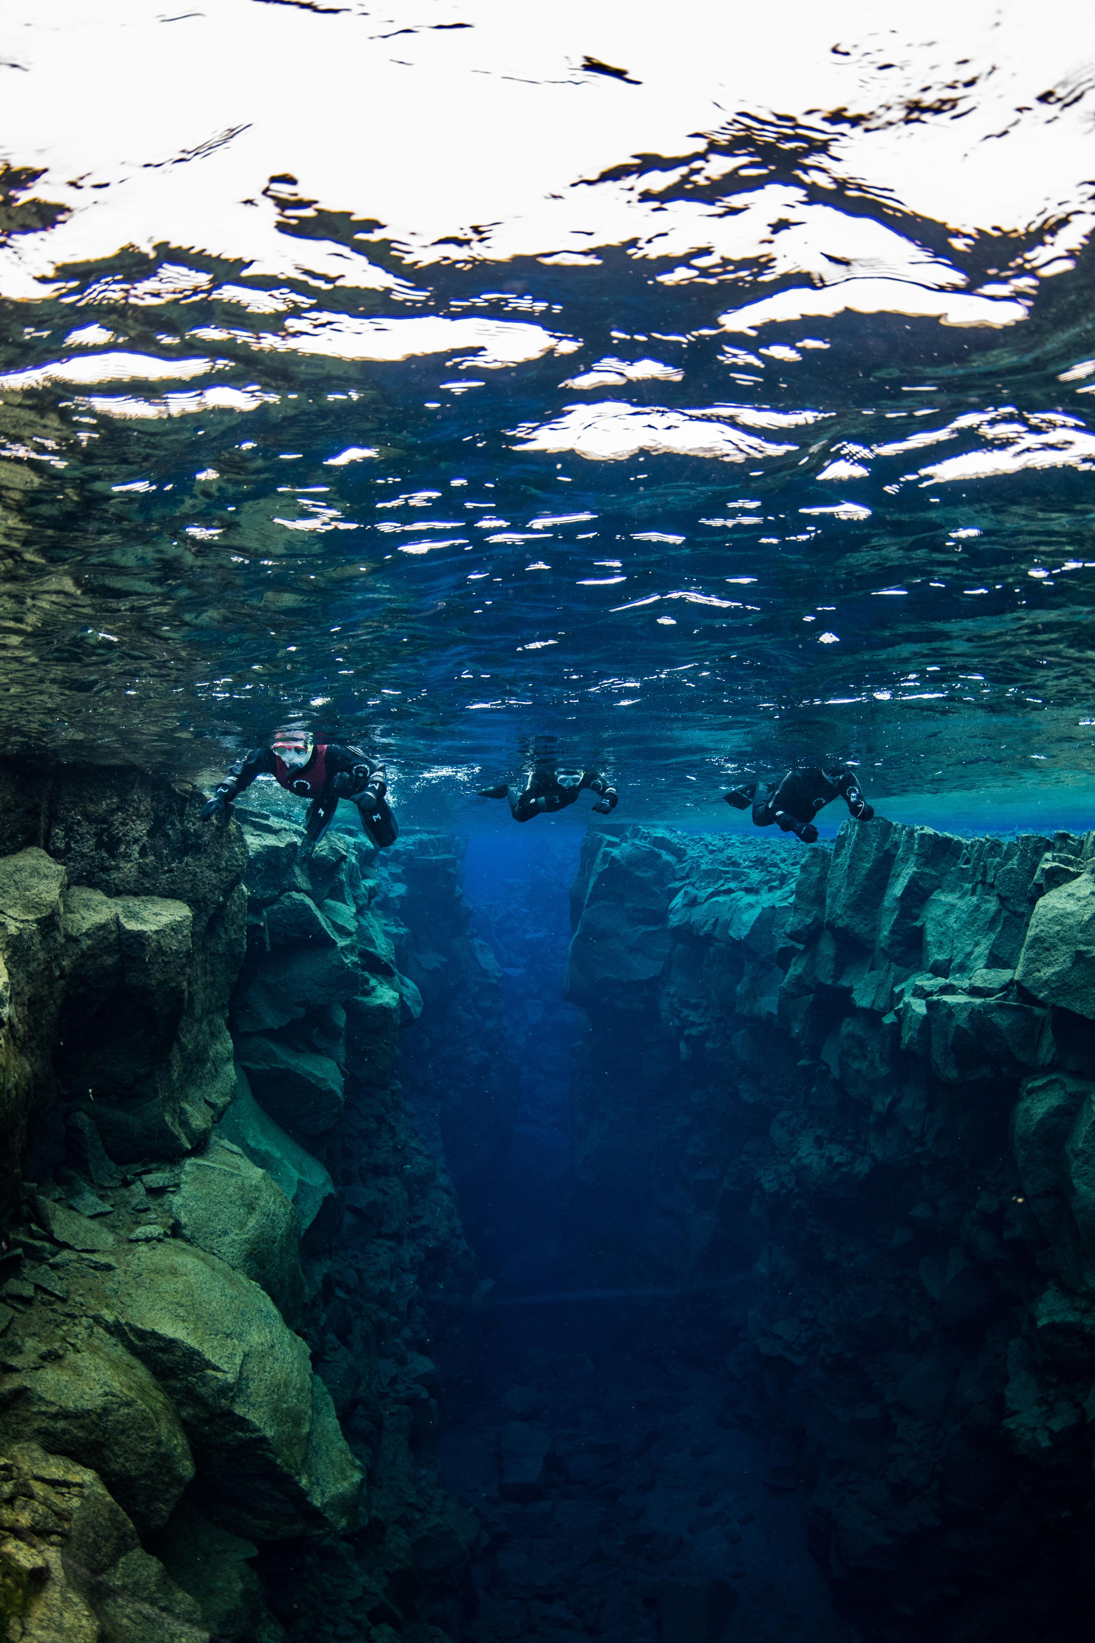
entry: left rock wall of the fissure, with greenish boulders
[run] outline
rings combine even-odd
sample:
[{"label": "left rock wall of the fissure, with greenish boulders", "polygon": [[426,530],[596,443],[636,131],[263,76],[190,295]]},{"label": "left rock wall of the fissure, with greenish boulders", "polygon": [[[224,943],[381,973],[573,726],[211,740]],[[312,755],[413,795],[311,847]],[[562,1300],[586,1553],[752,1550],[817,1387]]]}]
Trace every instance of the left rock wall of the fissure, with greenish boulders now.
[{"label": "left rock wall of the fissure, with greenish boulders", "polygon": [[392,1076],[420,999],[363,836],[199,808],[0,774],[0,1635],[430,1643],[478,1526],[430,1461],[424,1303],[471,1278]]}]

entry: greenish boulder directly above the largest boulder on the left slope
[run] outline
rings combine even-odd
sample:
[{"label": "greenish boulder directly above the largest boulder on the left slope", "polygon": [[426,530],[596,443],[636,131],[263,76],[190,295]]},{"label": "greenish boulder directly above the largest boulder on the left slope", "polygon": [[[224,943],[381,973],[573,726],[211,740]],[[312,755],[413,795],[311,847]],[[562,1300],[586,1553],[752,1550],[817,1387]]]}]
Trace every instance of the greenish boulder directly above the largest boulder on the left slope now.
[{"label": "greenish boulder directly above the largest boulder on the left slope", "polygon": [[286,1318],[304,1300],[300,1222],[281,1186],[235,1147],[213,1144],[182,1165],[172,1199],[184,1239],[251,1278]]}]

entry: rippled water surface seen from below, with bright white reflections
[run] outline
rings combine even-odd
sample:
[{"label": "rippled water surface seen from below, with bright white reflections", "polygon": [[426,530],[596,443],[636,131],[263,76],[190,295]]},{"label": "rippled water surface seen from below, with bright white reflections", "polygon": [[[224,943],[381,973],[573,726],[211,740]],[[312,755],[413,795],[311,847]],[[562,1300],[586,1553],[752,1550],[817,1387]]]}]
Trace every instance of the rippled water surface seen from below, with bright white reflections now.
[{"label": "rippled water surface seen from below, with bright white reflections", "polygon": [[742,10],[13,0],[10,741],[1082,803],[1087,8]]}]

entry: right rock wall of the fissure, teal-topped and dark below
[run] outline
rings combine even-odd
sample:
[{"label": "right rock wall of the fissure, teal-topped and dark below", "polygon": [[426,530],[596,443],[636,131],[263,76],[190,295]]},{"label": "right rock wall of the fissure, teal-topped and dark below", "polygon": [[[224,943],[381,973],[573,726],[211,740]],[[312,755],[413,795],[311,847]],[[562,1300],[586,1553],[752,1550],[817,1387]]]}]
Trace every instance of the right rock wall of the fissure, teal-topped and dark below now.
[{"label": "right rock wall of the fissure, teal-topped and dark below", "polygon": [[681,1290],[867,1636],[1084,1635],[1095,838],[586,840],[591,1282]]}]

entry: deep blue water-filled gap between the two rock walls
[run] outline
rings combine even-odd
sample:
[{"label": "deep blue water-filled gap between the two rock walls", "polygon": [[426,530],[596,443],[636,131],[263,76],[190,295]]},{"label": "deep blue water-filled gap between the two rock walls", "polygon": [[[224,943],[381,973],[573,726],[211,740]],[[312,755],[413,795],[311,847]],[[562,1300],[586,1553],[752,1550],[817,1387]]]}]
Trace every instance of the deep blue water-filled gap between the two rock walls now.
[{"label": "deep blue water-filled gap between the two rock walls", "polygon": [[[465,858],[506,1006],[501,1029],[483,1025],[517,1068],[519,1104],[489,1201],[468,1203],[476,1186],[455,1176],[493,1278],[478,1375],[438,1443],[445,1485],[483,1523],[461,1636],[849,1643],[760,1388],[734,1395],[752,1357],[740,1296],[676,1270],[652,1278],[642,1249],[606,1277],[634,1227],[627,1180],[598,1183],[591,1214],[576,1168],[571,1073],[589,1020],[563,983],[580,841],[491,835]],[[632,1050],[616,1052],[607,1099],[627,1098]]]}]

